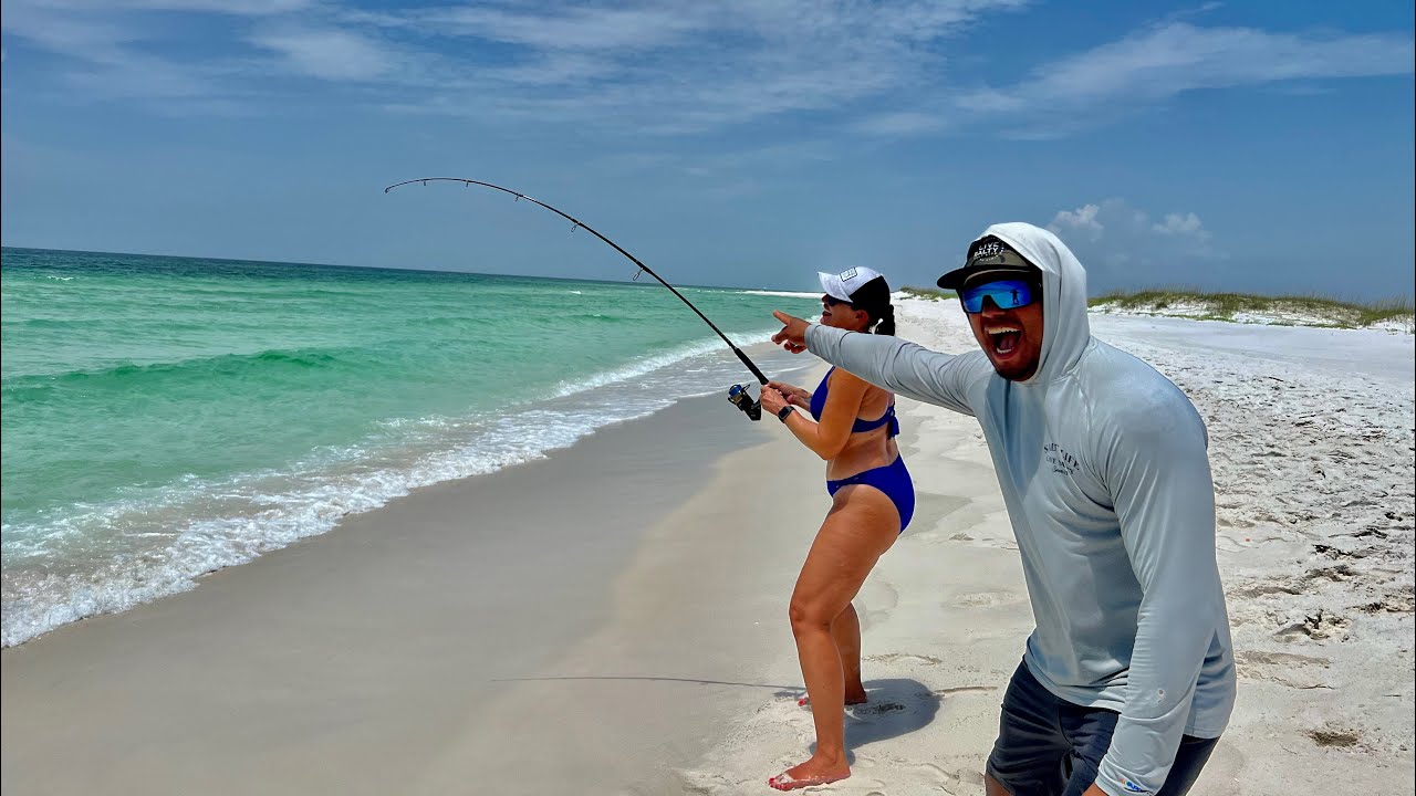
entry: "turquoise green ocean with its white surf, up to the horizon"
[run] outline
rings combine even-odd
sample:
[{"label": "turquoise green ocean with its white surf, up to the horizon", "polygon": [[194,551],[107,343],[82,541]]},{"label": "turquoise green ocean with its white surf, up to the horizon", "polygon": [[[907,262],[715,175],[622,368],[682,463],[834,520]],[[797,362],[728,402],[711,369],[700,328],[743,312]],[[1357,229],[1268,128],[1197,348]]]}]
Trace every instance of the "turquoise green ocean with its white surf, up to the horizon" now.
[{"label": "turquoise green ocean with its white surf, up to the horizon", "polygon": [[[752,381],[647,276],[6,248],[0,282],[6,646]],[[772,309],[817,310],[681,290],[739,346],[766,341]]]}]

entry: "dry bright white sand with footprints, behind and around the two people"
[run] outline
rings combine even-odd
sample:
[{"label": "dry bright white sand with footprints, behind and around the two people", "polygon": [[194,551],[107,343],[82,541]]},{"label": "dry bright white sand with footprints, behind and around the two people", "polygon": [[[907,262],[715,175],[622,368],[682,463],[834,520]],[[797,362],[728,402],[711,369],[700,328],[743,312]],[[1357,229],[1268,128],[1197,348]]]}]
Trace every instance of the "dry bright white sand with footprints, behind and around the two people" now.
[{"label": "dry bright white sand with footprints, behind and around the two people", "polygon": [[[954,302],[908,300],[901,320],[925,346],[973,344]],[[1174,380],[1209,429],[1240,683],[1195,792],[1409,790],[1412,336],[1106,316],[1092,329]],[[857,599],[872,703],[850,710],[852,778],[821,790],[978,796],[1032,616],[977,423],[902,404],[929,497]],[[760,792],[758,775],[811,738],[793,701],[765,703],[685,789]]]}]

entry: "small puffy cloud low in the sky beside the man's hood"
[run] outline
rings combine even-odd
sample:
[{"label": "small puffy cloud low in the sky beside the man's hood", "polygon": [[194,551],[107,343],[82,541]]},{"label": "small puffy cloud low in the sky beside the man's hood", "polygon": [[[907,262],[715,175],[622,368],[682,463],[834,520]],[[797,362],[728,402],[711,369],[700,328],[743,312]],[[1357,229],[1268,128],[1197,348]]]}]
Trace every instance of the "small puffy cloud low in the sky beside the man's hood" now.
[{"label": "small puffy cloud low in the sky beside the man's hood", "polygon": [[1168,212],[1160,221],[1126,200],[1109,198],[1061,210],[1048,229],[1086,266],[1095,290],[1188,285],[1228,255],[1211,245],[1195,212]]}]

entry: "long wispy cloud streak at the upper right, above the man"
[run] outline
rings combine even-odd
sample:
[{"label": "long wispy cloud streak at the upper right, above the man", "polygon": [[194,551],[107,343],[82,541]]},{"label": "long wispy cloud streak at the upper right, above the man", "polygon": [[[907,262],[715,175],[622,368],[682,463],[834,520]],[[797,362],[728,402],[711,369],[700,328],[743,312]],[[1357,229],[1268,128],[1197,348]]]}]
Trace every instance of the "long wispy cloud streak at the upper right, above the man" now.
[{"label": "long wispy cloud streak at the upper right, above the man", "polygon": [[1054,137],[1198,89],[1296,79],[1409,75],[1412,35],[1289,34],[1170,21],[1041,65],[1008,88],[957,99],[967,110],[1045,116],[1021,137]]}]

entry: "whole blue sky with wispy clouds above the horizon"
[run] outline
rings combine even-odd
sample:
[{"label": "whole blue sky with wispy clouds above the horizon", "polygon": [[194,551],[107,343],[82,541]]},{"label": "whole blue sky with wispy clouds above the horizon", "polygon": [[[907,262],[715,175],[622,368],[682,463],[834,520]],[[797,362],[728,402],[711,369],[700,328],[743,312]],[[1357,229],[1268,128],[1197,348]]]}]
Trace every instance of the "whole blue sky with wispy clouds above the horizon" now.
[{"label": "whole blue sky with wispy clouds above the horizon", "polygon": [[932,285],[995,221],[1093,292],[1410,296],[1413,11],[1368,3],[6,0],[4,245]]}]

